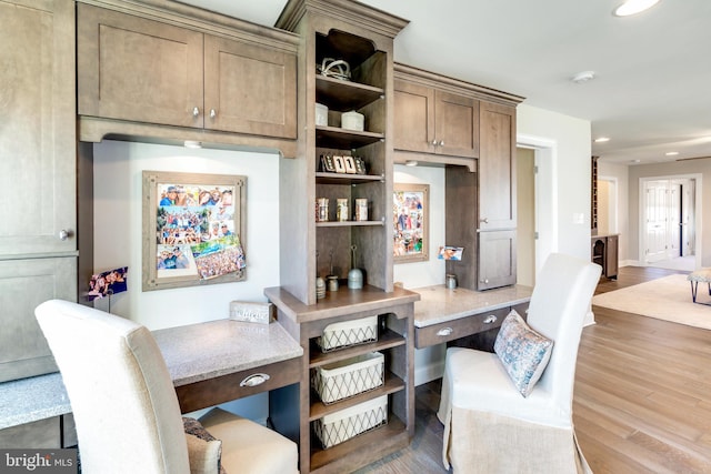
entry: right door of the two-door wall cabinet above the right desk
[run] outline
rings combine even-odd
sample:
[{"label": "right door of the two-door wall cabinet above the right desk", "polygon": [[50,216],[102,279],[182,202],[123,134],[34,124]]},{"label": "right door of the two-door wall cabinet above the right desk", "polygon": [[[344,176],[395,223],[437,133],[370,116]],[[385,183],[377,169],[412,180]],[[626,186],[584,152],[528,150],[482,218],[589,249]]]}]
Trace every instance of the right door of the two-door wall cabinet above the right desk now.
[{"label": "right door of the two-door wall cabinet above the right desk", "polygon": [[454,157],[479,157],[479,101],[435,91],[437,152]]}]

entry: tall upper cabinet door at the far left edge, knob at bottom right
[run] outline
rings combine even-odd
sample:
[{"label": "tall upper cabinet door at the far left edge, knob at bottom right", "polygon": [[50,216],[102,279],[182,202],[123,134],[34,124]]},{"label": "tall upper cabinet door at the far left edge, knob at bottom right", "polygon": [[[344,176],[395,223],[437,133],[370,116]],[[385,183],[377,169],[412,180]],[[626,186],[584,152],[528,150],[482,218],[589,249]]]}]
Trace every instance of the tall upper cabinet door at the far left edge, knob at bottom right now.
[{"label": "tall upper cabinet door at the far left edge, knob at bottom right", "polygon": [[0,259],[74,252],[74,2],[0,1]]}]

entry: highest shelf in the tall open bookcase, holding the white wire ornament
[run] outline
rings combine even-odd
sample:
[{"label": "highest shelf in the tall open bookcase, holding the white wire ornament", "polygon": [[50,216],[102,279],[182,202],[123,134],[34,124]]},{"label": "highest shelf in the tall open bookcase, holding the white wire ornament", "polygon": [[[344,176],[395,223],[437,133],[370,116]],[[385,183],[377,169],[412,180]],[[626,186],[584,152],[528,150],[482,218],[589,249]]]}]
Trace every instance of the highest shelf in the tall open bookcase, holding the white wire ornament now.
[{"label": "highest shelf in the tall open bookcase, holding the white wire ornament", "polygon": [[385,97],[381,88],[317,74],[316,100],[330,110],[347,112]]}]

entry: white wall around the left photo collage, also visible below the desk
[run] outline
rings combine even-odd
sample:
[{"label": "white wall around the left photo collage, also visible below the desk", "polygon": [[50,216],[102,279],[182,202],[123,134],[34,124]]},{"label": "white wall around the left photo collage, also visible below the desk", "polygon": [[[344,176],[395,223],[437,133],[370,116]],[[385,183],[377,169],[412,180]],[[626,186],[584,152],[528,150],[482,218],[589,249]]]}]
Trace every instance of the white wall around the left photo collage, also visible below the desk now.
[{"label": "white wall around the left photo collage, also visible below the desk", "polygon": [[[188,150],[104,141],[94,145],[94,271],[129,266],[128,291],[111,299],[111,312],[151,330],[228,317],[233,300],[267,301],[279,285],[279,160],[276,154]],[[247,280],[238,283],[141,291],[141,172],[240,174],[247,177]],[[107,310],[108,301],[96,306]],[[266,394],[222,405],[264,422]]]}]

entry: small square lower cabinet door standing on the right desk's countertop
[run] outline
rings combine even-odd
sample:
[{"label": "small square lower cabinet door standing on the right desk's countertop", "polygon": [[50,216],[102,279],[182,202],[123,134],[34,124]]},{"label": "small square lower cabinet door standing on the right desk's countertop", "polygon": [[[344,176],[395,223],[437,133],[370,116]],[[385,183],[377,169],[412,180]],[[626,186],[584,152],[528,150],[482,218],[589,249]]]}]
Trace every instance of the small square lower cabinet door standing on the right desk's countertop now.
[{"label": "small square lower cabinet door standing on the right desk's countertop", "polygon": [[479,233],[478,290],[515,283],[515,230]]}]

